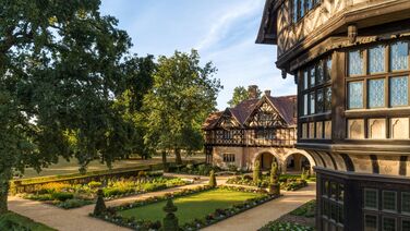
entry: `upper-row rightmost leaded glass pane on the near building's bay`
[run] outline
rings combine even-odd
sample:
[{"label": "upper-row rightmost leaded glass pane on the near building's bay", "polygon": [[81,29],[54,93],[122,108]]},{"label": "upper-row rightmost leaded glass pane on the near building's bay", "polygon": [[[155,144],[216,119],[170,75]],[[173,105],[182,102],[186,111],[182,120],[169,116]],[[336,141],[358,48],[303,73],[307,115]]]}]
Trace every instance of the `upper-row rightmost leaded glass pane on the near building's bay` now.
[{"label": "upper-row rightmost leaded glass pane on the near building's bay", "polygon": [[409,66],[409,44],[397,41],[390,46],[391,71],[407,70]]}]

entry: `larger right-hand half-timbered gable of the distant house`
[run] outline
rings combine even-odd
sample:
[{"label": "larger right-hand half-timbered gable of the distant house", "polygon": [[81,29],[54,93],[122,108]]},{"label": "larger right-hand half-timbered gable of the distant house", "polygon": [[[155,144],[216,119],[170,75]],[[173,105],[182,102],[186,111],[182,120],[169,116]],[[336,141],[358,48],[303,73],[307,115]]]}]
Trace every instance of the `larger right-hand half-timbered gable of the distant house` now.
[{"label": "larger right-hand half-timbered gable of the distant house", "polygon": [[284,126],[287,123],[270,102],[263,100],[251,113],[245,124],[250,127],[274,127]]}]

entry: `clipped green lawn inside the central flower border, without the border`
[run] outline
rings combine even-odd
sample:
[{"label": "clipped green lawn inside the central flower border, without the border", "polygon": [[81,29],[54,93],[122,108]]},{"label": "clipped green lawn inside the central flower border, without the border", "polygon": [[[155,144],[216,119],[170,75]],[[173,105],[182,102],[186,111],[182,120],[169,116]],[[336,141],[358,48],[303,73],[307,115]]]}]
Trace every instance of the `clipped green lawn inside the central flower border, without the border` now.
[{"label": "clipped green lawn inside the central flower border, without the border", "polygon": [[[214,212],[218,208],[228,208],[236,204],[241,204],[246,199],[258,197],[255,193],[233,192],[228,190],[212,190],[190,196],[180,197],[173,200],[178,207],[176,212],[179,223],[184,224],[194,219],[202,219],[206,215]],[[120,211],[123,217],[134,217],[150,221],[162,221],[165,211],[162,210],[167,202],[155,203],[129,210]]]}]

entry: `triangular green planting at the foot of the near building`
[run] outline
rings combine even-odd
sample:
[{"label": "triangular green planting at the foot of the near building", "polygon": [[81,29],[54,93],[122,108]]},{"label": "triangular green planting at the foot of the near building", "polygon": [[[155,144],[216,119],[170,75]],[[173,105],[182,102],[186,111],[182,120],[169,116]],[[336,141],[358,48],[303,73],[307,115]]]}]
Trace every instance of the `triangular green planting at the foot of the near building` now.
[{"label": "triangular green planting at the foot of the near building", "polygon": [[313,199],[293,211],[284,215],[260,229],[260,231],[314,231],[316,200]]}]

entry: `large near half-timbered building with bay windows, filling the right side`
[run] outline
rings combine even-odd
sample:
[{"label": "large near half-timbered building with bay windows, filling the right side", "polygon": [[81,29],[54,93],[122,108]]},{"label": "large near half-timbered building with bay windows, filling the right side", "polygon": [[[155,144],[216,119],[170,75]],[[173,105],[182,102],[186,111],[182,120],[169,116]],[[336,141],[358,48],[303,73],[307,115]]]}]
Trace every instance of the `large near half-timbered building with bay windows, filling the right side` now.
[{"label": "large near half-timbered building with bay windows, filling the right side", "polygon": [[267,0],[256,42],[298,84],[317,230],[410,230],[410,1]]}]

